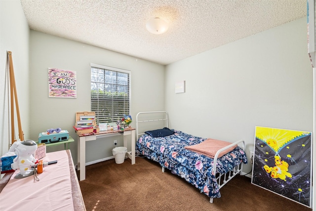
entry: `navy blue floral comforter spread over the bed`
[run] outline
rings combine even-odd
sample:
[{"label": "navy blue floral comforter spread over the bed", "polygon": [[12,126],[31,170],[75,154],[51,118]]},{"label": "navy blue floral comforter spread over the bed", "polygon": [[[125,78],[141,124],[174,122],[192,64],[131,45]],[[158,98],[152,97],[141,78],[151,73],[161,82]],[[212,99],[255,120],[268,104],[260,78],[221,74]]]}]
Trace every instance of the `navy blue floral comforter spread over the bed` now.
[{"label": "navy blue floral comforter spread over the bed", "polygon": [[[205,139],[179,130],[174,132],[173,135],[158,138],[142,135],[136,143],[136,152],[170,169],[210,198],[220,198],[219,186],[215,175],[212,175],[214,159],[184,148]],[[216,170],[226,173],[241,162],[246,164],[247,157],[240,147],[236,147],[217,160]]]}]

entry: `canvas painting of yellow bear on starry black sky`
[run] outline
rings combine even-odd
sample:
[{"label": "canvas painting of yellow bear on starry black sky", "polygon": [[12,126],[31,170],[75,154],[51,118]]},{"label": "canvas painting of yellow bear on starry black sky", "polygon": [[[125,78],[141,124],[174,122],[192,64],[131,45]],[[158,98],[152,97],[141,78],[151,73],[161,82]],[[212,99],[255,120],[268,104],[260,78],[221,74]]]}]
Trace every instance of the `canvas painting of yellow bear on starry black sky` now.
[{"label": "canvas painting of yellow bear on starry black sky", "polygon": [[251,183],[311,207],[312,132],[256,127]]}]

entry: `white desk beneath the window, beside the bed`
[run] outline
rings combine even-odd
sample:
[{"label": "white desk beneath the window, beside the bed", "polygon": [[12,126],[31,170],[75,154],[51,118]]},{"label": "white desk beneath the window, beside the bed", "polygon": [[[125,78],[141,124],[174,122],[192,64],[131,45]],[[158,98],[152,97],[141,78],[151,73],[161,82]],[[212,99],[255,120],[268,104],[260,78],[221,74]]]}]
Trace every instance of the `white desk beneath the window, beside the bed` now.
[{"label": "white desk beneath the window, beside the bed", "polygon": [[85,180],[85,142],[94,141],[98,138],[106,138],[115,135],[124,136],[124,147],[127,147],[127,136],[130,135],[131,152],[127,152],[127,157],[135,164],[135,128],[128,127],[124,130],[106,130],[95,134],[78,135],[78,170],[80,170],[80,181]]}]

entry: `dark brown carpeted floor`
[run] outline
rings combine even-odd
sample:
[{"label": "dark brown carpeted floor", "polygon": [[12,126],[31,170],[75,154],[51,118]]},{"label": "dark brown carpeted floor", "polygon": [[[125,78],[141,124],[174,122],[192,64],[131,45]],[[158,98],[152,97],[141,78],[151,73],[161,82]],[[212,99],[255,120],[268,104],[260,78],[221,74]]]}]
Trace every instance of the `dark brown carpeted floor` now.
[{"label": "dark brown carpeted floor", "polygon": [[129,159],[123,164],[112,159],[87,166],[86,179],[79,184],[87,211],[312,211],[239,175],[211,204],[181,177],[138,157],[135,165]]}]

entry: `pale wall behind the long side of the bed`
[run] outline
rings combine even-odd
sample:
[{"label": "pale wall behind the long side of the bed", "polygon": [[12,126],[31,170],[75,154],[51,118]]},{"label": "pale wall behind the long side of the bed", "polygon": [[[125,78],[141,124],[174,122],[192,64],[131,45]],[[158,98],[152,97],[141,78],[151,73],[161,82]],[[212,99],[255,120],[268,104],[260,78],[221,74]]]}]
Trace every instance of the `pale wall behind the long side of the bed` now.
[{"label": "pale wall behind the long side of the bed", "polygon": [[[181,80],[186,92],[175,94]],[[166,66],[165,110],[171,128],[230,142],[244,139],[248,155],[255,126],[312,131],[306,18]]]}]

